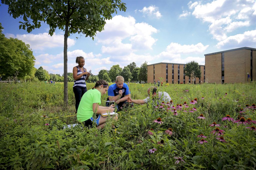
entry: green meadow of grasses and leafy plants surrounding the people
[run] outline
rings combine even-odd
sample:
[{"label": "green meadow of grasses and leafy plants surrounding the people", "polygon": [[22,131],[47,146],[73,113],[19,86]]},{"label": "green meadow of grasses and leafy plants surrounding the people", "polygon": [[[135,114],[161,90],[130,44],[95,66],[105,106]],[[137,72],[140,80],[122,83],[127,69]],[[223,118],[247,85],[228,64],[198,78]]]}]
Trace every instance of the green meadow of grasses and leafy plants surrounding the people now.
[{"label": "green meadow of grasses and leafy plants surrounding the people", "polygon": [[[90,89],[94,84],[87,86]],[[119,120],[110,120],[103,130],[81,124],[63,130],[66,124],[77,123],[72,116],[71,83],[67,111],[62,109],[62,83],[0,84],[0,169],[255,169],[256,132],[246,128],[255,124],[222,121],[227,114],[235,120],[239,115],[256,120],[255,110],[239,113],[246,104],[255,103],[255,86],[255,82],[164,84],[159,91],[169,93],[174,106],[186,101],[189,108],[183,107],[175,116],[135,104],[119,112]],[[132,98],[144,99],[148,87],[130,83]],[[102,104],[106,97],[102,96]],[[198,103],[189,104],[194,98]],[[194,107],[196,111],[189,112]],[[200,114],[205,119],[198,119]],[[163,123],[153,122],[158,117]],[[213,122],[225,131],[219,137],[227,143],[211,134],[216,130],[209,126]],[[168,128],[172,128],[171,136],[165,133]],[[207,138],[197,137],[200,134]]]}]

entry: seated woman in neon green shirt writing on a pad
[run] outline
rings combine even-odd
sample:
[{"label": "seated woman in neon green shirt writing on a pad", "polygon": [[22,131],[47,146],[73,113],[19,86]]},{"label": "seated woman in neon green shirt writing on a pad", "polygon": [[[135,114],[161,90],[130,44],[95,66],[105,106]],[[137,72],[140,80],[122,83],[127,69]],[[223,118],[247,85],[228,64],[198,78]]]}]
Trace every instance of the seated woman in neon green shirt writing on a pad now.
[{"label": "seated woman in neon green shirt writing on a pad", "polygon": [[[108,91],[109,85],[104,80],[96,82],[95,86],[88,90],[82,97],[78,110],[77,120],[82,122],[85,126],[92,126],[93,122],[97,123],[97,128],[103,128],[108,117],[103,117],[100,114],[113,112],[115,109],[114,104],[109,107],[99,106],[101,104],[101,96]],[[93,114],[96,113],[96,119],[93,119]],[[112,117],[112,115],[111,115]],[[117,116],[113,116],[115,120]]]}]

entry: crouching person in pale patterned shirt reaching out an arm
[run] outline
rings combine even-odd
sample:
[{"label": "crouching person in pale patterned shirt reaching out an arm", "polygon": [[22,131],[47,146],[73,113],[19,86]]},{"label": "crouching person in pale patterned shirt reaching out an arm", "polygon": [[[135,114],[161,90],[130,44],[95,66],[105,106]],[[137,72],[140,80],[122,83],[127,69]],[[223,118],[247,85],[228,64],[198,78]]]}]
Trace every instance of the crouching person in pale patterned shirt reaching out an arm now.
[{"label": "crouching person in pale patterned shirt reaching out an arm", "polygon": [[[169,96],[168,93],[166,93],[165,91],[158,91],[157,93],[157,88],[154,86],[151,86],[150,88],[147,89],[147,94],[148,97],[143,99],[143,100],[134,100],[134,99],[129,99],[130,102],[135,103],[135,104],[145,104],[148,103],[150,100],[153,100],[153,106],[157,106],[159,104],[161,104],[162,101],[164,102],[170,102],[171,97]],[[127,99],[128,101],[128,99]]]}]

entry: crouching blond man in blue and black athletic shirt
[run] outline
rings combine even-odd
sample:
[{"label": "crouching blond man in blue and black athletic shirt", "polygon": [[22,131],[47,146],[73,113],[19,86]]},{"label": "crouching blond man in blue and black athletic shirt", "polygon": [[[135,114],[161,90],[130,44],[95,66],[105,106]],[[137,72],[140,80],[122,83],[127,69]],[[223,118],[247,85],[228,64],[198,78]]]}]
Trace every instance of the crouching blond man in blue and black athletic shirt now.
[{"label": "crouching blond man in blue and black athletic shirt", "polygon": [[117,110],[122,110],[129,97],[131,97],[129,87],[124,83],[124,77],[119,75],[116,77],[115,84],[109,86],[106,106],[109,107],[111,104],[116,103]]}]

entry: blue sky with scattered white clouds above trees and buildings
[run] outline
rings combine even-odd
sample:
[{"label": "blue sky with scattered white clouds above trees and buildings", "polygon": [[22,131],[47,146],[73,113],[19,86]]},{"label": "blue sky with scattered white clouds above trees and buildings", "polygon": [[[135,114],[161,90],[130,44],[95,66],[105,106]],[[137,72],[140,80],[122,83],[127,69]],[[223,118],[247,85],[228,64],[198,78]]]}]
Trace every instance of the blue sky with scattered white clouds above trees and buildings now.
[{"label": "blue sky with scattered white clouds above trees and buildings", "polygon": [[[126,12],[114,14],[104,31],[90,37],[73,34],[68,39],[68,72],[75,58],[85,58],[85,68],[98,74],[101,69],[147,61],[184,63],[195,60],[205,64],[204,54],[240,47],[256,48],[255,0],[147,1],[128,0]],[[64,32],[51,37],[49,26],[27,33],[19,30],[19,21],[1,4],[0,22],[6,37],[30,44],[35,67],[49,73],[63,73]]]}]

